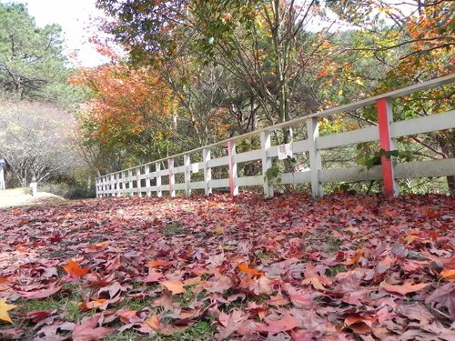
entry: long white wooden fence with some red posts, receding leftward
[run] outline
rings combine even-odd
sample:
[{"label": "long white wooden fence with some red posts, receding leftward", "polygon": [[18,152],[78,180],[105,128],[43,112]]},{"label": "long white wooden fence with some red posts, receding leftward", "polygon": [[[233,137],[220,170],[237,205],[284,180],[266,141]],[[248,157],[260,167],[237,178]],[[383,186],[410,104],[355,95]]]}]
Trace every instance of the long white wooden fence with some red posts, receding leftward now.
[{"label": "long white wooden fence with some red posts, receding leftward", "polygon": [[[106,176],[100,176],[96,178],[96,196],[163,196],[163,193],[176,196],[176,191],[185,191],[186,195],[190,196],[191,191],[195,189],[204,189],[205,194],[209,195],[213,189],[222,187],[230,188],[231,195],[236,196],[238,188],[245,186],[263,186],[265,196],[273,196],[273,186],[268,184],[264,176],[272,166],[273,158],[278,156],[278,145],[271,145],[270,134],[278,129],[304,123],[307,125],[308,138],[293,141],[291,147],[294,154],[308,152],[309,170],[283,174],[281,176],[281,184],[310,183],[313,196],[320,197],[323,196],[323,183],[383,179],[386,196],[397,196],[398,186],[396,180],[399,178],[455,176],[455,158],[397,164],[396,160],[392,162],[392,160],[387,160],[383,157],[382,165],[373,166],[369,170],[357,166],[323,169],[321,166],[321,151],[371,141],[379,141],[380,147],[384,150],[393,150],[393,138],[454,128],[455,110],[399,122],[393,122],[391,115],[391,100],[393,98],[410,95],[440,85],[448,85],[454,81],[455,74],[447,75],[420,85],[409,86],[349,105],[341,105],[245,135],[238,135],[186,153],[172,155],[145,165],[137,165]],[[339,134],[319,136],[319,118],[343,114],[366,105],[375,104],[378,107],[379,125]],[[255,135],[260,136],[260,149],[248,150],[237,154],[236,145],[238,142]],[[219,147],[227,147],[227,155],[211,158],[211,150],[214,148],[219,149]],[[202,161],[191,162],[191,159]],[[262,175],[238,176],[238,163],[248,161],[260,161]],[[167,168],[163,167],[163,165],[167,165]],[[212,168],[222,166],[228,169],[228,172],[226,172],[228,176],[221,179],[212,179]],[[176,175],[179,174],[183,175],[183,182],[176,183]],[[198,174],[200,181],[192,181],[192,175],[195,174]],[[166,185],[163,185],[165,180]]]}]

